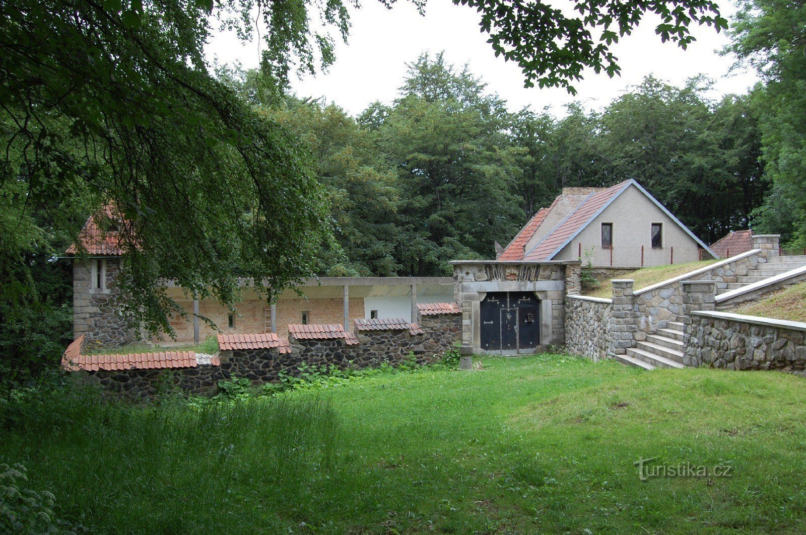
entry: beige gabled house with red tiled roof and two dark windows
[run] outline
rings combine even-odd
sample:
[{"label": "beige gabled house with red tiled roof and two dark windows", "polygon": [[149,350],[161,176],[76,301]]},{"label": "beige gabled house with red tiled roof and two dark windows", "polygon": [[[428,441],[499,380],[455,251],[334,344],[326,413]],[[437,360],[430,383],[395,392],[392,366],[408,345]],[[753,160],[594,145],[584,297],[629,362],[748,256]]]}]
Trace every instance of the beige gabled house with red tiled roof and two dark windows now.
[{"label": "beige gabled house with red tiled roof and two dark windows", "polygon": [[563,188],[517,233],[499,261],[581,260],[594,268],[642,268],[719,258],[635,180]]}]

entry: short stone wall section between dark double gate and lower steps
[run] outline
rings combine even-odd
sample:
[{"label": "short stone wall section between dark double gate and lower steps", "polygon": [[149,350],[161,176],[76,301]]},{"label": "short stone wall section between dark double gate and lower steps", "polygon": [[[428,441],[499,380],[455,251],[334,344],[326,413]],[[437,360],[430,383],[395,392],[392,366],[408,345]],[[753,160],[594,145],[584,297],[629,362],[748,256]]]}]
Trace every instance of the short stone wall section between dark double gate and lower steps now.
[{"label": "short stone wall section between dark double gate and lower steps", "polygon": [[573,355],[605,359],[613,302],[596,297],[568,296],[565,301],[565,346]]}]

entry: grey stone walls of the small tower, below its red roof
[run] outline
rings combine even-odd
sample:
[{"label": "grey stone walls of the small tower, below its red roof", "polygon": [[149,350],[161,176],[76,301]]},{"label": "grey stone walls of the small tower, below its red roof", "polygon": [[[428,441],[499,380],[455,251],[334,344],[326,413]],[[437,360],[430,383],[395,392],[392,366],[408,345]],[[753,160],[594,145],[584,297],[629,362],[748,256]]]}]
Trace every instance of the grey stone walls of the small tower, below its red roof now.
[{"label": "grey stone walls of the small tower, below its red roof", "polygon": [[105,288],[92,288],[89,261],[76,260],[73,266],[73,336],[85,334],[89,346],[114,347],[139,339],[136,330],[127,329],[123,316],[114,309],[114,280],[117,259],[106,263]]}]

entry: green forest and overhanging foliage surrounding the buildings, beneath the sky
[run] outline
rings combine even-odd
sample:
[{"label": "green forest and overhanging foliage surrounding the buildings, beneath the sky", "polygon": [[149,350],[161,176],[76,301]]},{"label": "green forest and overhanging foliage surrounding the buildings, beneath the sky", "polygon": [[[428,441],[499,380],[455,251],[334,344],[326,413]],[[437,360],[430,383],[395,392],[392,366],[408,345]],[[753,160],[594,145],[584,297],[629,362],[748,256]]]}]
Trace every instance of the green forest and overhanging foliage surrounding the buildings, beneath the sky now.
[{"label": "green forest and overhanging foliage surrounding the buildings, beneath the sky", "polygon": [[[527,87],[573,93],[584,68],[616,76],[610,47],[648,12],[670,46],[690,43],[693,24],[727,31],[725,53],[762,81],[713,100],[706,77],[675,87],[648,76],[603,109],[558,115],[511,110],[472,64],[432,52],[412,58],[393,102],[352,117],[289,93],[295,72],[333,63],[334,39],[308,21],[318,11],[346,38],[338,0],[6,2],[4,363],[57,361],[72,292],[59,257],[110,201],[127,222],[118,305],[152,333],[178,310],[161,280],[232,307],[243,277],[270,299],[316,275],[442,275],[451,259],[492,258],[567,186],[634,178],[706,243],[750,226],[806,245],[802,4],[742,0],[728,23],[708,0],[595,0],[577,18],[542,2],[456,3],[480,13]],[[263,19],[244,22],[257,7]],[[268,27],[260,68],[206,60],[218,23],[244,39]]]}]

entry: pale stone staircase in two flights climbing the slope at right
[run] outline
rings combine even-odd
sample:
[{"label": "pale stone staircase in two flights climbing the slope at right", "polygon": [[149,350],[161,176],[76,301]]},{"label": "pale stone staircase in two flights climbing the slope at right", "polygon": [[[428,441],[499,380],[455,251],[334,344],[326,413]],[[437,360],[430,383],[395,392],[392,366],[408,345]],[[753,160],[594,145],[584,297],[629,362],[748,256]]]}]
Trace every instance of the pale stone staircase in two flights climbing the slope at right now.
[{"label": "pale stone staircase in two flights climbing the slope at right", "polygon": [[[737,277],[737,282],[727,283],[727,288],[717,290],[717,295],[803,266],[806,266],[806,255],[772,256],[767,263],[758,264],[758,269],[750,272],[752,275]],[[646,340],[635,342],[635,345],[627,348],[626,355],[617,355],[616,360],[645,370],[684,367],[682,322],[667,321],[666,328],[647,334]]]}]

